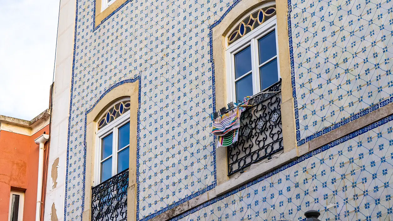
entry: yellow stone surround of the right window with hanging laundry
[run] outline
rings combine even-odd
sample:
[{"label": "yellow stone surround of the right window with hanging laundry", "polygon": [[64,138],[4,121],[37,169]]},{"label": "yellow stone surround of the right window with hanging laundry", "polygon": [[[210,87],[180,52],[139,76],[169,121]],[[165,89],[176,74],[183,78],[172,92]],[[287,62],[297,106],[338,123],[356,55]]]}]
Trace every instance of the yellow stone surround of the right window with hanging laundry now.
[{"label": "yellow stone surround of the right window with hanging laundry", "polygon": [[[225,107],[228,102],[228,88],[227,88],[227,68],[226,68],[226,49],[228,47],[229,36],[233,27],[239,24],[239,21],[244,19],[244,16],[252,13],[257,7],[261,5],[276,5],[276,29],[277,29],[277,47],[278,56],[280,58],[279,70],[282,79],[281,87],[281,115],[283,123],[283,139],[284,152],[296,148],[296,134],[295,134],[295,120],[293,109],[293,97],[291,88],[291,75],[289,59],[289,43],[288,43],[288,25],[287,13],[288,4],[286,0],[242,0],[235,6],[234,9],[222,19],[222,21],[212,29],[212,43],[213,43],[213,62],[215,69],[215,86],[216,86],[216,109],[219,110]],[[230,180],[228,177],[228,162],[227,149],[217,148],[217,185],[224,184]]]}]

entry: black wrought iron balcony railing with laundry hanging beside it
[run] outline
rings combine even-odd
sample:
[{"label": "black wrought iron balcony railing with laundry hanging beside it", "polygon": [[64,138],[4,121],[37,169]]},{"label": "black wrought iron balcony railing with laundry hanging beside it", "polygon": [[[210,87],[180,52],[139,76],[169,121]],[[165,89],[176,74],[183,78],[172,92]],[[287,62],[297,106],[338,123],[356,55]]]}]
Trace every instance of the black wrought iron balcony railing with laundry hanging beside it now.
[{"label": "black wrought iron balcony railing with laundry hanging beside it", "polygon": [[248,100],[240,117],[238,140],[228,146],[228,175],[284,149],[281,123],[281,80]]}]

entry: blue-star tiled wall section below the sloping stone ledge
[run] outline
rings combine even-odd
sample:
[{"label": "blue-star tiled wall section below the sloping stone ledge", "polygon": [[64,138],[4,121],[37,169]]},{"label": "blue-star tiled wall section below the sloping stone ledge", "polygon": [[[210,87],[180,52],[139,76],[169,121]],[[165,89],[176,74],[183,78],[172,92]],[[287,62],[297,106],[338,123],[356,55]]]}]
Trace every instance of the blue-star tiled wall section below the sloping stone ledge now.
[{"label": "blue-star tiled wall section below the sloping stone ledge", "polygon": [[319,210],[322,221],[391,220],[393,116],[173,218],[293,220]]}]

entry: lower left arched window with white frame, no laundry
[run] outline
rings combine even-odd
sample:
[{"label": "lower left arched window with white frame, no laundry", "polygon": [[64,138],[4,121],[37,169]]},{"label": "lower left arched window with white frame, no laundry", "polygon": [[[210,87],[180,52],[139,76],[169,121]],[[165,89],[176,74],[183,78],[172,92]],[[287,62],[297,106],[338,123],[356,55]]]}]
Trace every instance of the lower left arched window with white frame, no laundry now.
[{"label": "lower left arched window with white frame, no laundry", "polygon": [[112,106],[98,121],[95,181],[97,184],[129,168],[130,100]]}]

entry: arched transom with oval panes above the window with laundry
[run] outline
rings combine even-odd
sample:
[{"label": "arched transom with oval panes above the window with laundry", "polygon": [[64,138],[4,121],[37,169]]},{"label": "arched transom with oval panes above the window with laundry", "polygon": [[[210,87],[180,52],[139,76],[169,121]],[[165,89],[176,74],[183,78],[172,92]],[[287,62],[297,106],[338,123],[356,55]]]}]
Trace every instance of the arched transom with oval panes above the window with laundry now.
[{"label": "arched transom with oval panes above the window with laundry", "polygon": [[256,27],[260,26],[263,22],[269,20],[276,13],[275,5],[264,7],[254,11],[246,18],[244,18],[236,28],[228,35],[228,45],[232,44],[239,38],[243,37]]}]

